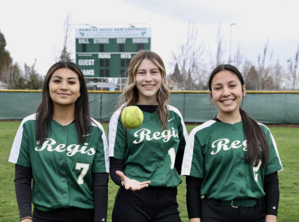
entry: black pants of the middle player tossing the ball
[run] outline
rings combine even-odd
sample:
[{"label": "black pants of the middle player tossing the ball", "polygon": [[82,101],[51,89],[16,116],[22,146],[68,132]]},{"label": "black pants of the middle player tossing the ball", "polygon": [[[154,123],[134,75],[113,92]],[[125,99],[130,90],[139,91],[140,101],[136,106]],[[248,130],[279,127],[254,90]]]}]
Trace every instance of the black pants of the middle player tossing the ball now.
[{"label": "black pants of the middle player tossing the ball", "polygon": [[120,187],[112,222],[181,222],[176,187],[146,187],[138,191]]}]

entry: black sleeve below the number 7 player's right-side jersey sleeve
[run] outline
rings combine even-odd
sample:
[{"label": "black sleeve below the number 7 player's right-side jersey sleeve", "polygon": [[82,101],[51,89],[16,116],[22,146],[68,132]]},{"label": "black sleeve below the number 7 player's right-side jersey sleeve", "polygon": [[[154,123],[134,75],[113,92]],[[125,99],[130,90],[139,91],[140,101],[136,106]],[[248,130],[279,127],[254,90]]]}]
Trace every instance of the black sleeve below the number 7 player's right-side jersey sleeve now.
[{"label": "black sleeve below the number 7 player's right-side jersey sleeve", "polygon": [[107,221],[108,173],[92,173],[92,191],[94,198],[94,222]]}]

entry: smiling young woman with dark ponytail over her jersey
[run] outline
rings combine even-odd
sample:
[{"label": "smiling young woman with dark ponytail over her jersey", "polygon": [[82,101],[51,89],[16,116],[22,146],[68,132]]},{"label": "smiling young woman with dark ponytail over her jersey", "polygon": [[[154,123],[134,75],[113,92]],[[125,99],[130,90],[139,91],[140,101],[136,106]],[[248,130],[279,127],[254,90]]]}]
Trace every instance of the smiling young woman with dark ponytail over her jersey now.
[{"label": "smiling young woman with dark ponytail over her jersey", "polygon": [[240,107],[242,74],[219,65],[209,90],[218,115],[191,131],[182,165],[190,222],[276,221],[283,168],[269,128]]}]

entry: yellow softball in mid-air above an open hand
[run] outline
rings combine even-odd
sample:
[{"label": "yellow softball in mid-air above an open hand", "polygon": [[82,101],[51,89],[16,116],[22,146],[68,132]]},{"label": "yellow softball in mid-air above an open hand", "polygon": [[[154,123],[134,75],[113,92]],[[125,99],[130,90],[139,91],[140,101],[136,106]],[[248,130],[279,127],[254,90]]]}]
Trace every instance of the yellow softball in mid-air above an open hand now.
[{"label": "yellow softball in mid-air above an open hand", "polygon": [[141,126],[143,121],[143,113],[138,106],[127,106],[121,113],[121,122],[126,128],[135,129]]}]

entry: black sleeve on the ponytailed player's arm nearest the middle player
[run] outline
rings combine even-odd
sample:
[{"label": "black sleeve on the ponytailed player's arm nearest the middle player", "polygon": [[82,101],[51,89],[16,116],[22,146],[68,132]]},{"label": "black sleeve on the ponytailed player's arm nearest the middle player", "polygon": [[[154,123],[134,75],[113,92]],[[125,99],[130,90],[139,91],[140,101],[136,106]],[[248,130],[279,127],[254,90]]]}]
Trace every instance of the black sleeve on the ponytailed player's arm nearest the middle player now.
[{"label": "black sleeve on the ponytailed player's arm nearest the middle player", "polygon": [[186,203],[189,219],[200,218],[200,187],[202,181],[203,178],[186,176]]}]

